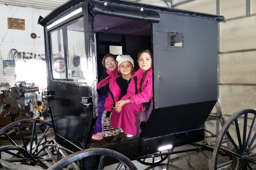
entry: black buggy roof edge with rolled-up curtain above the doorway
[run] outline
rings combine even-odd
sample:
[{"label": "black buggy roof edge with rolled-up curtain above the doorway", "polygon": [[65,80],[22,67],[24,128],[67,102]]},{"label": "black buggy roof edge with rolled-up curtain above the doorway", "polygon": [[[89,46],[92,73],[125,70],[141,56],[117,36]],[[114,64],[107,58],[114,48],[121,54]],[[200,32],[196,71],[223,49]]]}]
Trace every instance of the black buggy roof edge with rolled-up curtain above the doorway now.
[{"label": "black buggy roof edge with rolled-up curtain above the doorway", "polygon": [[[65,13],[80,7],[81,5],[85,4],[87,1],[85,0],[69,0],[65,4],[57,7],[53,10],[50,14],[46,17],[41,17],[38,19],[38,24],[42,26],[50,25],[52,22],[61,18]],[[225,18],[219,15],[212,15],[200,12],[193,12],[193,11],[186,11],[174,8],[167,8],[167,7],[160,7],[160,6],[153,6],[153,5],[146,5],[141,3],[135,3],[130,1],[123,1],[123,0],[107,0],[107,1],[100,1],[100,0],[88,0],[90,4],[90,11],[93,14],[98,14],[97,12],[101,12],[101,15],[108,15],[112,17],[119,17],[119,18],[126,18],[126,19],[135,19],[141,21],[149,21],[149,22],[159,22],[160,16],[157,15],[157,12],[163,13],[171,13],[177,15],[186,15],[191,17],[197,18],[207,18],[207,19],[214,19],[217,21],[225,22]],[[107,3],[108,6],[112,10],[108,10],[104,8],[104,3]],[[100,7],[99,10],[93,10],[93,7]],[[144,11],[140,11],[141,7],[143,7]],[[105,11],[104,11],[105,9]],[[113,10],[114,9],[114,10]],[[88,9],[89,10],[89,9]],[[115,11],[116,10],[116,11]],[[120,12],[121,11],[121,12]],[[125,12],[127,11],[127,12]],[[141,14],[141,17],[138,14]],[[138,17],[139,16],[139,17]],[[110,20],[110,19],[109,19]],[[109,20],[105,20],[105,22],[109,22]],[[97,27],[96,27],[97,29]]]}]

